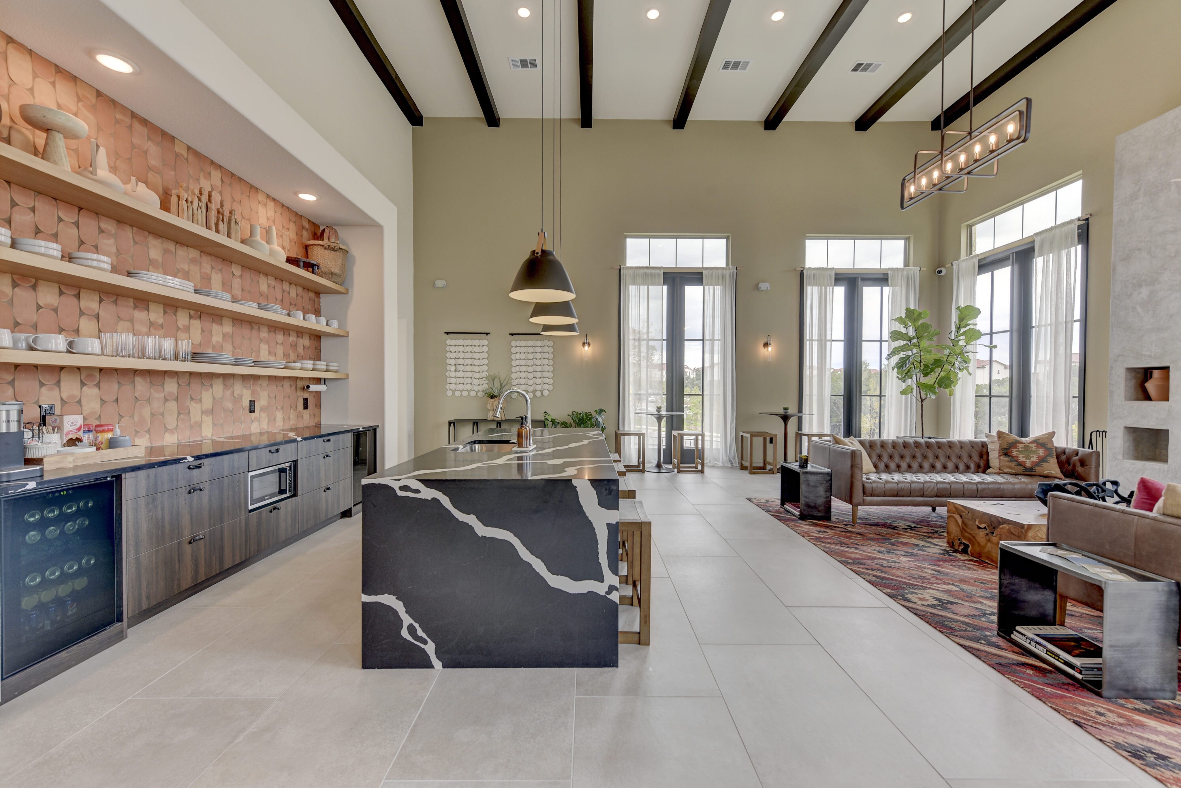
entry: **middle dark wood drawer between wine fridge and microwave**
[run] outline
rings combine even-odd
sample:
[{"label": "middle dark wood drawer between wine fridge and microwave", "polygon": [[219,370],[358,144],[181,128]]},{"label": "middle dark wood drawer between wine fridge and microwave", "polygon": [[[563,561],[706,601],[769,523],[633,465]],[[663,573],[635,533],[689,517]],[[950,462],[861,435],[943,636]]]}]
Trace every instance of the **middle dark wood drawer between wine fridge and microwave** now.
[{"label": "middle dark wood drawer between wine fridge and microwave", "polygon": [[128,555],[246,516],[246,474],[130,499],[123,509]]}]

